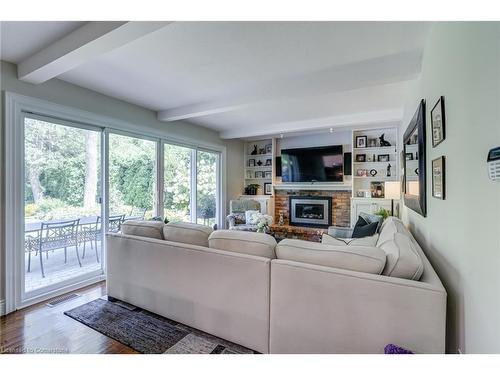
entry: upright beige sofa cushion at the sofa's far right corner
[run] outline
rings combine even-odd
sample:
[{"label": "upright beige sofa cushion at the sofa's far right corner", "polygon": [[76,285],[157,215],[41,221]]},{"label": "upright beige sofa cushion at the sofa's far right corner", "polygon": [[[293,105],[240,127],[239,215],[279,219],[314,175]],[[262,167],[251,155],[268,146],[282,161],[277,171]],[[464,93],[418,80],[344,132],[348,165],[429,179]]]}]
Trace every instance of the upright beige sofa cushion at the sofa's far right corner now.
[{"label": "upright beige sofa cushion at the sofa's far right corner", "polygon": [[419,280],[424,263],[411,233],[396,218],[388,218],[382,225],[377,247],[387,255],[383,275]]}]

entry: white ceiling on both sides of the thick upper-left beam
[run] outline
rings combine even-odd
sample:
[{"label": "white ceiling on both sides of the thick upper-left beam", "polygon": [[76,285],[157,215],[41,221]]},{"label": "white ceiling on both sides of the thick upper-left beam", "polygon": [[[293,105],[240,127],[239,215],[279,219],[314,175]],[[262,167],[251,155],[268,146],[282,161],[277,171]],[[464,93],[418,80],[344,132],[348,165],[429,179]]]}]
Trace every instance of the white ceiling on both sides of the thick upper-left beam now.
[{"label": "white ceiling on both sides of the thick upper-left beam", "polygon": [[[13,24],[2,23],[1,58],[14,63],[81,26]],[[397,122],[408,81],[420,72],[428,28],[423,22],[174,22],[58,78],[225,138]]]}]

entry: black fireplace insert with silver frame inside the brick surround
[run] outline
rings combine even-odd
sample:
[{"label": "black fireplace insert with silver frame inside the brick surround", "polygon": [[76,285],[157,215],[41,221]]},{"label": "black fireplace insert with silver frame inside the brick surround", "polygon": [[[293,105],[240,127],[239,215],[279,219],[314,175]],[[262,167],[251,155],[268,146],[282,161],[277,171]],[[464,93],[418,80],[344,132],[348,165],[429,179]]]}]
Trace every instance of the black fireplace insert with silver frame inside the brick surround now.
[{"label": "black fireplace insert with silver frame inside the brick surround", "polygon": [[331,204],[330,197],[290,197],[290,225],[330,226]]}]

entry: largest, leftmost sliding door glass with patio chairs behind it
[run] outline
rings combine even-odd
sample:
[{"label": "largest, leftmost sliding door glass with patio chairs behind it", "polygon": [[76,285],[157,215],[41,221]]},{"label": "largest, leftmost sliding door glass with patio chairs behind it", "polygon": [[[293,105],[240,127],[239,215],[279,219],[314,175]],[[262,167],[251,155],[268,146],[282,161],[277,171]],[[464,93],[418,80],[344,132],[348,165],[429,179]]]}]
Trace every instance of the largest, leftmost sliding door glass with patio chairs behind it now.
[{"label": "largest, leftmost sliding door glass with patio chairs behind it", "polygon": [[102,130],[24,118],[25,298],[103,273]]}]

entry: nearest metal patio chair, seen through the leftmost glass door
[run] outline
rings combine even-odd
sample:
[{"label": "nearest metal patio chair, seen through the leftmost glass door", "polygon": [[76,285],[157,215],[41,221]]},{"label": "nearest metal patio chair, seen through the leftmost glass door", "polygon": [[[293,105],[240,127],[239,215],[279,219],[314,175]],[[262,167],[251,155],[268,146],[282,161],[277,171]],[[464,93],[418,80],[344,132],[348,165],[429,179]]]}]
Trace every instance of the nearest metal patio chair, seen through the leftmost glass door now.
[{"label": "nearest metal patio chair, seen through the leftmost glass door", "polygon": [[[43,269],[43,252],[64,248],[64,263],[68,261],[67,248],[74,246],[78,264],[82,266],[80,254],[78,253],[78,225],[80,219],[58,222],[42,222],[39,237],[38,255],[40,256],[40,269],[42,277],[45,277]],[[29,260],[28,260],[29,262]]]}]

